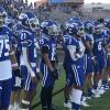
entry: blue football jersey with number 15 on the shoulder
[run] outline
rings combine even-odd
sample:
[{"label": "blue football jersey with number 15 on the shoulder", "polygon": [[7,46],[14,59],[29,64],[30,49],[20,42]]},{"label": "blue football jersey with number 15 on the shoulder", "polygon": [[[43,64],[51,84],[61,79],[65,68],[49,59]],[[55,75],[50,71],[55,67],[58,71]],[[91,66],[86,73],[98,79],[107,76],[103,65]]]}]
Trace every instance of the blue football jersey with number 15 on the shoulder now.
[{"label": "blue football jersey with number 15 on the shoulder", "polygon": [[47,37],[45,35],[42,35],[38,38],[38,45],[40,45],[40,48],[42,48],[43,46],[47,46],[48,47],[48,58],[50,58],[50,61],[54,61],[54,62],[56,61],[57,43],[56,43],[55,36]]}]

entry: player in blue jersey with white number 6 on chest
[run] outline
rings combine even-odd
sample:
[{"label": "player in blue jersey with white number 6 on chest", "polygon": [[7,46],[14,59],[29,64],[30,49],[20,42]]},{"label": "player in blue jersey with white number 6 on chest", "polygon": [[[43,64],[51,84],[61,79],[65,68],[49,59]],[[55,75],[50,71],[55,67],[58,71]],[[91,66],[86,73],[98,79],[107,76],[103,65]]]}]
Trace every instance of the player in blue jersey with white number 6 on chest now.
[{"label": "player in blue jersey with white number 6 on chest", "polygon": [[[106,34],[102,32],[103,25],[99,22],[94,22],[94,48],[92,53],[96,58],[96,63],[94,63],[95,75],[94,75],[94,89],[96,91],[96,97],[100,97],[100,94],[105,91],[98,90],[99,79],[102,80],[103,70],[106,67]],[[100,87],[99,87],[100,88]]]}]

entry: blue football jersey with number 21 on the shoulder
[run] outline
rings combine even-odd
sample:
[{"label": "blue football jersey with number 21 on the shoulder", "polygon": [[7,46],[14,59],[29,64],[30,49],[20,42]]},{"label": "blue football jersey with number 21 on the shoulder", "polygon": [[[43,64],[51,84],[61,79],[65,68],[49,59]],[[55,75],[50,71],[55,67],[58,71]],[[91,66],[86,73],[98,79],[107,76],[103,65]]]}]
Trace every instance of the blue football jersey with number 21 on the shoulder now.
[{"label": "blue football jersey with number 21 on the shoulder", "polygon": [[35,33],[29,29],[22,28],[18,33],[18,46],[22,54],[22,47],[28,50],[28,59],[30,63],[36,63]]}]

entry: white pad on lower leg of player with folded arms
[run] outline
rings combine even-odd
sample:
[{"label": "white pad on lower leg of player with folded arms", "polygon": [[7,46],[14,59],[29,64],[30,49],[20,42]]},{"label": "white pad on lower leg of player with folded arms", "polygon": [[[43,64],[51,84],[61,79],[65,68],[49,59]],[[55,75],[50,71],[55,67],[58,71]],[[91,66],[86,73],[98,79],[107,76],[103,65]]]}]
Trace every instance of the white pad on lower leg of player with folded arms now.
[{"label": "white pad on lower leg of player with folded arms", "polygon": [[72,91],[72,102],[75,102],[77,105],[80,105],[80,100],[81,100],[81,95],[82,95],[82,91],[79,90],[79,89],[73,89]]}]

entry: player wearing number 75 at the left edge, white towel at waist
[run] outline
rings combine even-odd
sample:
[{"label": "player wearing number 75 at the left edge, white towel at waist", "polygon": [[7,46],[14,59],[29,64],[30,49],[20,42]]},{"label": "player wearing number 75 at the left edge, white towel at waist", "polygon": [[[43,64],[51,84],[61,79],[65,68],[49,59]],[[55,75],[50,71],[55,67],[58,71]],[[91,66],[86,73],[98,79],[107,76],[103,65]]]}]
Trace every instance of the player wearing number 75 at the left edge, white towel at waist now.
[{"label": "player wearing number 75 at the left edge, white towel at waist", "polygon": [[12,68],[20,77],[16,58],[12,50],[13,34],[3,25],[8,14],[0,7],[0,110],[8,110],[12,89]]}]

